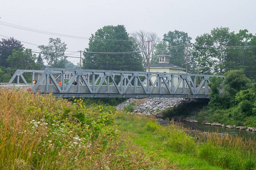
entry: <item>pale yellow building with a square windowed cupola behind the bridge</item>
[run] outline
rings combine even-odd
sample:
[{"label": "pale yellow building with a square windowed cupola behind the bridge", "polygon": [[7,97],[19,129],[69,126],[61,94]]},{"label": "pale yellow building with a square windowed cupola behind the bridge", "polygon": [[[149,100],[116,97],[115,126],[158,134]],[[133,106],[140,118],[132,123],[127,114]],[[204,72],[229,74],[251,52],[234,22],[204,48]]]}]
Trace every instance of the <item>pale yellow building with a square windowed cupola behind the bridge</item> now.
[{"label": "pale yellow building with a square windowed cupola behind the bridge", "polygon": [[[158,63],[154,65],[150,65],[150,72],[160,72],[160,73],[186,73],[184,72],[184,68],[170,64],[170,55],[157,55]],[[148,67],[145,67],[146,71],[148,71]],[[151,77],[152,82],[154,83],[156,77]],[[173,83],[176,86],[178,84],[178,78],[173,78]],[[162,82],[163,85],[163,82]],[[170,85],[171,86],[171,85]],[[180,84],[182,87],[182,83]]]}]

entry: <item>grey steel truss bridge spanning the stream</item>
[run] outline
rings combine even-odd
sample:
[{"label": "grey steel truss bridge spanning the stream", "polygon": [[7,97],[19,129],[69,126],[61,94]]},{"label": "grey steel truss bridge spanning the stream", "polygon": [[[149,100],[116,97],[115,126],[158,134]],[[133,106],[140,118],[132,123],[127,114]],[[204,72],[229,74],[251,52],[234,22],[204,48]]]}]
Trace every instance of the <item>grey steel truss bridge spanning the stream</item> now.
[{"label": "grey steel truss bridge spanning the stream", "polygon": [[[23,74],[38,75],[36,85],[28,84]],[[65,85],[65,75],[69,74],[69,84]],[[56,97],[115,97],[115,98],[208,98],[211,89],[207,86],[214,75],[160,73],[115,70],[82,70],[46,68],[45,70],[16,70],[9,86],[17,78],[24,82],[25,90],[50,93]],[[219,78],[224,76],[215,75]],[[60,80],[62,85],[57,81]],[[74,81],[77,85],[74,85]]]}]

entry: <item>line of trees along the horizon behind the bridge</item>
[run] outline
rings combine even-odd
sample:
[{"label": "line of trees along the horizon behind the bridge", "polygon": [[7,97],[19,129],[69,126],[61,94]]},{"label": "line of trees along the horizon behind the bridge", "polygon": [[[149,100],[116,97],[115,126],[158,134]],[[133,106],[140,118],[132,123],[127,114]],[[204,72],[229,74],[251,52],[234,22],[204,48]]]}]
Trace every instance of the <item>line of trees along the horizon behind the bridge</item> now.
[{"label": "line of trees along the horizon behind the bridge", "polygon": [[[150,41],[149,48],[147,41]],[[255,34],[246,29],[235,33],[220,27],[197,36],[194,43],[191,41],[188,33],[177,30],[165,33],[161,40],[154,32],[140,30],[129,34],[123,25],[104,26],[90,37],[88,48],[83,51],[82,68],[143,71],[148,62],[151,65],[158,62],[157,55],[170,55],[170,63],[185,68],[188,46],[189,73],[224,74],[243,69],[255,81]],[[50,38],[48,45],[38,48],[40,52],[36,55],[13,37],[2,39],[0,81],[8,81],[16,69],[40,69],[44,61],[49,67],[76,67],[68,61],[70,52],[66,54],[67,44],[60,38]]]}]

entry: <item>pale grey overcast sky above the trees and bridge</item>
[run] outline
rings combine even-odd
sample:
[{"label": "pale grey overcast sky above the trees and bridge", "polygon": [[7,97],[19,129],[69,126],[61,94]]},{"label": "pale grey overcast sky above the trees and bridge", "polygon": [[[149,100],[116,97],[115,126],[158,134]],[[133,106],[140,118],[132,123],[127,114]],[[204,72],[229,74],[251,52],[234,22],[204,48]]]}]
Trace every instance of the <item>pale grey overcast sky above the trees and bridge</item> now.
[{"label": "pale grey overcast sky above the trees and bridge", "polygon": [[[220,26],[256,33],[254,0],[1,0],[0,17],[0,21],[19,26],[81,37],[90,37],[103,26],[118,24],[124,25],[128,33],[152,31],[161,38],[176,29],[187,32],[193,42],[196,36]],[[2,25],[0,34],[39,45],[47,45],[50,37],[56,38]],[[60,38],[70,51],[88,47],[88,40]],[[23,44],[38,50],[35,45]],[[68,60],[76,63],[79,59]]]}]

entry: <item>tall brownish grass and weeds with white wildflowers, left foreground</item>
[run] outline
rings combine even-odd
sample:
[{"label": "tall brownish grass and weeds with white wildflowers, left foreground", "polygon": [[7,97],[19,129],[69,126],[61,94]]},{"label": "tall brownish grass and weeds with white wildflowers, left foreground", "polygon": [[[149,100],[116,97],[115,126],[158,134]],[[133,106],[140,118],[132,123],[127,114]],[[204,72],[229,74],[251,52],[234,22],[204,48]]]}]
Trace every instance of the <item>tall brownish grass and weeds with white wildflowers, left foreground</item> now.
[{"label": "tall brownish grass and weeds with white wildflowers, left foreground", "polygon": [[115,107],[4,88],[0,102],[0,169],[155,166],[150,156],[118,136]]}]

